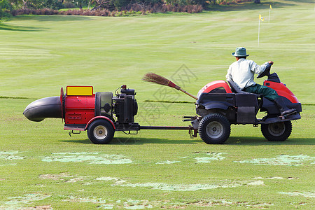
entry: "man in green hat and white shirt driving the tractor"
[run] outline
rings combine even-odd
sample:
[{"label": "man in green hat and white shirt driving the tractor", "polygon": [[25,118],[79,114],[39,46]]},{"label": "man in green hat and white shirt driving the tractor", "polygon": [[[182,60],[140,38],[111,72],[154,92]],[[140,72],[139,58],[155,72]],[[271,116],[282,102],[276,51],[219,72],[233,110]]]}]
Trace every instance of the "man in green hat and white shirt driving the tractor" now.
[{"label": "man in green hat and white shirt driving the tractor", "polygon": [[265,85],[259,85],[253,80],[255,73],[260,74],[264,72],[267,69],[268,64],[272,65],[274,62],[265,62],[265,64],[259,66],[252,60],[246,59],[248,55],[246,53],[246,48],[243,47],[236,48],[232,55],[235,56],[237,61],[230,65],[226,75],[227,79],[233,80],[239,89],[245,92],[262,94],[263,97],[272,100],[279,108],[281,116],[296,111],[295,109],[288,109],[285,102],[283,102],[282,97],[279,97],[275,90]]}]

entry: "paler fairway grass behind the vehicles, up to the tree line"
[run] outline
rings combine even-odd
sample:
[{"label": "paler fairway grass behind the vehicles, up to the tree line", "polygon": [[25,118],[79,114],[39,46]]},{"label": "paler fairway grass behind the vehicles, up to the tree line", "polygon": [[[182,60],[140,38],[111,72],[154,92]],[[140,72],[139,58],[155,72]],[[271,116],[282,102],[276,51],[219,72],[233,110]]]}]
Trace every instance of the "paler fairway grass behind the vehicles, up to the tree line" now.
[{"label": "paler fairway grass behind the vehicles, up to the tree line", "polygon": [[[13,18],[0,26],[0,95],[40,98],[58,95],[66,85],[113,91],[126,83],[139,99],[148,99],[157,87],[141,81],[144,73],[170,77],[182,64],[197,76],[186,87],[197,94],[209,81],[225,79],[235,61],[231,52],[245,46],[258,64],[273,60],[272,70],[303,104],[315,104],[309,91],[314,89],[313,2],[276,1],[269,23],[269,3],[250,4],[248,10],[192,15]],[[258,48],[259,14],[265,22]]]}]

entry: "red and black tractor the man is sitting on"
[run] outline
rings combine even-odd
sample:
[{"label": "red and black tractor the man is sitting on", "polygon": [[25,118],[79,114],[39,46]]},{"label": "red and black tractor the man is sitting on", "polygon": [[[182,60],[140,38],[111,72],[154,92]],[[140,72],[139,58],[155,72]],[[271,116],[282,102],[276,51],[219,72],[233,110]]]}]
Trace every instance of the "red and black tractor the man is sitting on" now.
[{"label": "red and black tractor the man is sitting on", "polygon": [[[232,81],[217,80],[211,82],[198,93],[196,102],[198,132],[207,144],[223,144],[230,137],[230,125],[261,124],[263,136],[269,141],[285,141],[291,134],[291,120],[301,118],[302,106],[297,97],[285,84],[281,83],[276,73],[270,74],[269,65],[257,78],[268,76],[264,85],[276,90],[290,109],[295,112],[281,116],[274,102],[261,94],[244,92]],[[230,86],[229,86],[230,85]],[[258,111],[266,115],[256,118]]]}]

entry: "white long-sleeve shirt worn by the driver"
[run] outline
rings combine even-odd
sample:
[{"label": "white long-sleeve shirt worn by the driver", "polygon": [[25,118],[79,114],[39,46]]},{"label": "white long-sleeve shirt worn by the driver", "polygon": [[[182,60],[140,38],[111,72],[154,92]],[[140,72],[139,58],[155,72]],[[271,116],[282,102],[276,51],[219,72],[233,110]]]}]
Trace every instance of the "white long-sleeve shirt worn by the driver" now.
[{"label": "white long-sleeve shirt worn by the driver", "polygon": [[240,58],[238,61],[232,63],[225,76],[227,79],[232,79],[243,90],[245,87],[255,85],[254,75],[265,71],[268,62],[258,66],[255,62],[249,59]]}]

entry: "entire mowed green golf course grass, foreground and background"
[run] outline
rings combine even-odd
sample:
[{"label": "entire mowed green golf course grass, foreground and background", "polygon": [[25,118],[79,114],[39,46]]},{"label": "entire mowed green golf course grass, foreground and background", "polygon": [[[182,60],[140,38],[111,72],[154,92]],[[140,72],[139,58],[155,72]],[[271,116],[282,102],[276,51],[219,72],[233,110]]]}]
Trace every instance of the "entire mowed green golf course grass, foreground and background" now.
[{"label": "entire mowed green golf course grass, foreground and background", "polygon": [[[1,22],[0,209],[312,209],[314,2],[272,1],[269,23],[269,3],[262,2],[193,15]],[[265,22],[258,48],[259,14]],[[86,132],[69,137],[61,119],[34,123],[22,116],[34,99],[59,95],[66,85],[93,85],[97,92],[127,84],[137,91],[137,123],[188,125],[181,117],[194,116],[194,104],[146,100],[193,99],[161,94],[165,89],[142,76],[153,71],[197,94],[225,79],[239,45],[258,64],[272,59],[272,70],[302,102],[302,119],[287,141],[269,142],[259,127],[232,125],[224,145],[190,139],[186,131],[150,130],[117,132],[112,144],[94,145]]]}]

